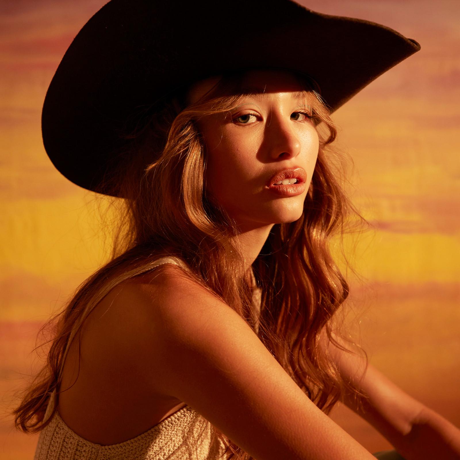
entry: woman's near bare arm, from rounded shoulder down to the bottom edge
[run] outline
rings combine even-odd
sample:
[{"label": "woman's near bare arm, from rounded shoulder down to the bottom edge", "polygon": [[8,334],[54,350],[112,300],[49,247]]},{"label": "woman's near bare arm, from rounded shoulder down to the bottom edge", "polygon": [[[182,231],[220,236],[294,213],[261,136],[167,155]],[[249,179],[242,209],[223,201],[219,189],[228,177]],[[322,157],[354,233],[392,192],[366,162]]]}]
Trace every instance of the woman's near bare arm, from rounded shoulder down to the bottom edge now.
[{"label": "woman's near bare arm, from rounded shoulder down to the bottom edge", "polygon": [[[373,457],[322,413],[253,330],[198,284],[166,270],[136,303],[149,334],[136,347],[161,390],[189,404],[258,460]],[[148,359],[145,359],[147,357]]]}]

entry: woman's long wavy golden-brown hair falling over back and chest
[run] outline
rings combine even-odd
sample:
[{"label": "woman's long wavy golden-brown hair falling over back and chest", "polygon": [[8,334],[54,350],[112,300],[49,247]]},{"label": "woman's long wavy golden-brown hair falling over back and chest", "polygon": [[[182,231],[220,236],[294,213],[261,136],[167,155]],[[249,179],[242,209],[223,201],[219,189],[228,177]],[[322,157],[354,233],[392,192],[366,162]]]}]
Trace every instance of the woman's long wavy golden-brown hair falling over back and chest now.
[{"label": "woman's long wavy golden-brown hair falling over back and chest", "polygon": [[[193,104],[185,102],[185,89],[178,91],[127,122],[121,133],[126,142],[115,155],[117,167],[99,189],[123,197],[112,200],[118,220],[109,262],[42,327],[52,330],[51,346],[45,365],[13,411],[17,429],[37,433],[52,419],[57,406],[45,417],[46,407],[52,393],[60,391],[66,353],[92,308],[117,284],[167,255],[182,259],[190,268],[188,276],[249,323],[322,411],[329,413],[345,393],[359,394],[320,342],[325,338],[344,349],[336,340],[334,320],[349,285],[331,255],[331,241],[343,237],[353,222],[356,229],[357,222],[366,221],[340,184],[344,162],[331,146],[337,130],[328,107],[311,81],[298,78],[320,138],[316,167],[302,216],[272,227],[250,276],[244,272],[236,223],[207,193],[207,152],[196,123],[241,103],[247,95],[241,92],[241,75],[224,75]],[[260,314],[253,308],[250,280],[261,290]],[[226,446],[226,458],[252,459],[216,427],[213,433]]]}]

